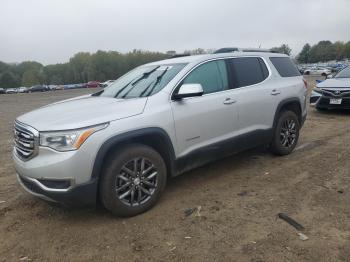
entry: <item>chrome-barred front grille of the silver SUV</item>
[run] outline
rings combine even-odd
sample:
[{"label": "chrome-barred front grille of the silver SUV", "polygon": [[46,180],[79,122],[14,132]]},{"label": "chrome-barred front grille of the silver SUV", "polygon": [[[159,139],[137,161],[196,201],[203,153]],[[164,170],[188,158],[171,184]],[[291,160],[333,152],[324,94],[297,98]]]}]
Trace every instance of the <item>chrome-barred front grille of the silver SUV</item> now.
[{"label": "chrome-barred front grille of the silver SUV", "polygon": [[14,143],[17,155],[23,160],[29,160],[37,154],[38,134],[32,127],[15,123]]}]

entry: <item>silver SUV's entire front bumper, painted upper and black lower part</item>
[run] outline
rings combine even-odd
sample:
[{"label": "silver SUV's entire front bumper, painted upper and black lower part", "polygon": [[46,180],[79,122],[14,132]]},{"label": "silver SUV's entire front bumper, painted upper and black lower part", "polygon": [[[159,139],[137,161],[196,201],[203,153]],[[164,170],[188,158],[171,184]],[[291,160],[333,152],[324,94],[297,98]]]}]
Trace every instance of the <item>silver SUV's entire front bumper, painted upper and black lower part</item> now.
[{"label": "silver SUV's entire front bumper, painted upper and black lower part", "polygon": [[47,201],[95,206],[98,177],[91,176],[94,155],[86,145],[82,150],[69,152],[40,147],[39,154],[29,161],[21,160],[13,150],[20,184],[30,194]]}]

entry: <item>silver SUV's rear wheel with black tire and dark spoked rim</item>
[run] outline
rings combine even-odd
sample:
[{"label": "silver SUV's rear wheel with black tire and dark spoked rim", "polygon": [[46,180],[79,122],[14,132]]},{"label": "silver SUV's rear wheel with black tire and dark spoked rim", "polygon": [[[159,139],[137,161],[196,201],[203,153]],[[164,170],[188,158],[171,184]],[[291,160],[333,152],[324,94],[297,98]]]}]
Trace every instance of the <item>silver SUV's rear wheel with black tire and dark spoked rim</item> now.
[{"label": "silver SUV's rear wheel with black tire and dark spoked rim", "polygon": [[[291,126],[288,126],[288,123],[291,123]],[[300,123],[297,115],[293,111],[282,111],[274,130],[271,143],[272,152],[280,156],[290,154],[298,143],[299,130]],[[287,139],[287,142],[285,139]]]}]

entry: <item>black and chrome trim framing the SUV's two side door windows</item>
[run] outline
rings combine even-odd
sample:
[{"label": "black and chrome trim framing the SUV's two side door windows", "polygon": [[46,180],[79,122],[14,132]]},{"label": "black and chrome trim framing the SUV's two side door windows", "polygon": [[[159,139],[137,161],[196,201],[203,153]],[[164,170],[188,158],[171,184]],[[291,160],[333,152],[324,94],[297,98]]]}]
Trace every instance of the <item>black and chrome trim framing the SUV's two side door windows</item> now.
[{"label": "black and chrome trim framing the SUV's two side door windows", "polygon": [[[177,83],[174,85],[173,89],[171,90],[170,92],[170,101],[176,101],[174,98],[173,98],[173,95],[174,93],[180,88],[181,86],[181,83],[182,81],[193,71],[195,70],[197,67],[205,64],[205,63],[209,63],[209,62],[212,62],[212,61],[218,61],[218,60],[229,60],[229,59],[235,59],[235,58],[249,58],[249,57],[253,57],[253,58],[261,58],[263,60],[263,62],[265,63],[265,66],[267,68],[267,71],[268,71],[268,76],[261,82],[259,83],[256,83],[256,84],[253,84],[253,85],[248,85],[248,86],[242,86],[242,87],[236,87],[236,88],[233,88],[232,87],[232,80],[229,81],[229,89],[227,90],[223,90],[223,91],[218,91],[218,92],[213,92],[213,93],[209,93],[209,94],[203,94],[202,96],[197,96],[197,97],[186,97],[184,98],[184,100],[187,100],[187,99],[194,99],[194,98],[199,98],[199,97],[203,97],[203,96],[210,96],[210,95],[215,95],[215,94],[218,94],[218,93],[224,93],[224,92],[229,92],[229,91],[232,91],[232,90],[238,90],[238,89],[241,89],[241,88],[247,88],[247,87],[254,87],[256,85],[260,85],[264,82],[266,82],[267,80],[269,80],[272,76],[272,71],[271,71],[271,67],[270,67],[270,64],[267,62],[267,60],[265,59],[265,57],[262,57],[262,56],[249,56],[249,55],[246,55],[246,56],[227,56],[227,57],[218,57],[218,58],[210,58],[210,59],[207,59],[207,60],[204,60],[196,65],[194,65],[185,75],[183,75],[181,77],[181,79],[179,81],[177,81]],[[227,66],[227,61],[225,61],[225,64]],[[229,72],[227,70],[227,74],[228,74],[228,77],[230,77],[229,75]]]}]

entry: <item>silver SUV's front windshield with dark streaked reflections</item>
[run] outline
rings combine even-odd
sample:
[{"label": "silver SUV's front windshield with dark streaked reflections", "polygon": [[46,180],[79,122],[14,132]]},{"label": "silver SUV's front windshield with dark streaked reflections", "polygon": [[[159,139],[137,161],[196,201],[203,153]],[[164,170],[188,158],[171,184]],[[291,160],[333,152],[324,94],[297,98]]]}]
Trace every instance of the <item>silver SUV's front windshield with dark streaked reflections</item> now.
[{"label": "silver SUV's front windshield with dark streaked reflections", "polygon": [[164,64],[137,67],[97,95],[125,99],[151,96],[163,89],[185,65]]}]

